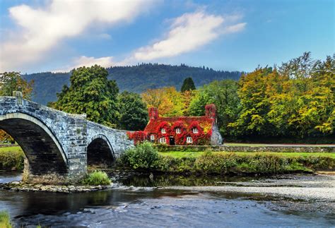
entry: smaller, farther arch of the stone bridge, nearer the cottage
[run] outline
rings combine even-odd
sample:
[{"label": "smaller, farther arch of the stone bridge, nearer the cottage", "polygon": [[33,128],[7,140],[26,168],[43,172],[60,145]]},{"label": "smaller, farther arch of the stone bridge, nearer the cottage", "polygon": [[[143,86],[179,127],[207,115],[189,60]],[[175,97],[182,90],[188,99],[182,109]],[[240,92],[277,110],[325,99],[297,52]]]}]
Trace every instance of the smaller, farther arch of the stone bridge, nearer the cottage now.
[{"label": "smaller, farther arch of the stone bridge, nearer the cottage", "polygon": [[110,165],[114,162],[115,155],[110,140],[102,134],[93,136],[88,142],[87,164]]}]

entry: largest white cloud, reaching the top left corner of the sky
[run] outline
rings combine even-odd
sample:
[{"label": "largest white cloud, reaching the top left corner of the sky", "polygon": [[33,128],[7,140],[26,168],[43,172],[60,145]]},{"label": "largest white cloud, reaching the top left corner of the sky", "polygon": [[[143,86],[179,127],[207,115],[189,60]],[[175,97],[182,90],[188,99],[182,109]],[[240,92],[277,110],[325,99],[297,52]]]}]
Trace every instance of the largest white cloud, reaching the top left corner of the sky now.
[{"label": "largest white cloud, reaching the top left corner of the sky", "polygon": [[93,23],[129,22],[151,4],[148,0],[53,0],[45,8],[9,8],[11,18],[21,30],[16,39],[11,37],[0,44],[0,71],[17,71],[42,59],[59,42],[80,35]]}]

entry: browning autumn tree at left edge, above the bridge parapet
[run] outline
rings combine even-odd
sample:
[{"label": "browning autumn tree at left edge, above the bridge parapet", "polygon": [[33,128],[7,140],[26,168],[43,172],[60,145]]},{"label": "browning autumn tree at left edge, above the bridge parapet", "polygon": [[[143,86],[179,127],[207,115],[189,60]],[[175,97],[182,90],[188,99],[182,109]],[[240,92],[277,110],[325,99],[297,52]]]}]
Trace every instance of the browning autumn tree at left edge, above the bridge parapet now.
[{"label": "browning autumn tree at left edge, above the bridge parapet", "polygon": [[12,96],[13,91],[21,91],[23,98],[30,100],[33,95],[34,81],[24,80],[19,72],[0,73],[0,96]]}]

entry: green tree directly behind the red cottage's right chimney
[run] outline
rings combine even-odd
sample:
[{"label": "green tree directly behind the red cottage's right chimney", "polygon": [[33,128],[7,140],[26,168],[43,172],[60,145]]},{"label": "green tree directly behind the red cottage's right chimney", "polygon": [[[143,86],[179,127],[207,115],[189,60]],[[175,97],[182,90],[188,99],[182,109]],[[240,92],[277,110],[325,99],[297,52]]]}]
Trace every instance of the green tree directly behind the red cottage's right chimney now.
[{"label": "green tree directly behind the red cottage's right chimney", "polygon": [[215,80],[200,88],[189,105],[189,113],[193,116],[205,114],[206,104],[215,104],[218,127],[223,136],[230,135],[227,126],[239,116],[241,105],[237,95],[238,84],[235,80]]}]

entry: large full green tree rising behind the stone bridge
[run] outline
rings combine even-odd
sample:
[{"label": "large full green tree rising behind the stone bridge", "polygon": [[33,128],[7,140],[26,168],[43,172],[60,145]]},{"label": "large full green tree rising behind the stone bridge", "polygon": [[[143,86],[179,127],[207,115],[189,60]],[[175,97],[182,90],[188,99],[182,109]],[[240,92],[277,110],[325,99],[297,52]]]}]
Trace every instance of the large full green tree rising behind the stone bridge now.
[{"label": "large full green tree rising behind the stone bridge", "polygon": [[87,119],[106,126],[116,126],[119,119],[114,80],[107,80],[102,66],[80,67],[71,72],[70,87],[64,85],[52,107],[64,112],[86,114]]}]

